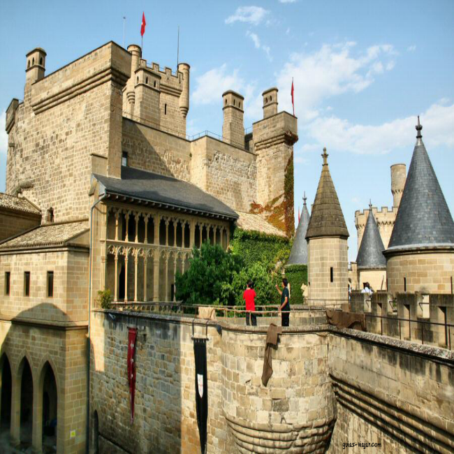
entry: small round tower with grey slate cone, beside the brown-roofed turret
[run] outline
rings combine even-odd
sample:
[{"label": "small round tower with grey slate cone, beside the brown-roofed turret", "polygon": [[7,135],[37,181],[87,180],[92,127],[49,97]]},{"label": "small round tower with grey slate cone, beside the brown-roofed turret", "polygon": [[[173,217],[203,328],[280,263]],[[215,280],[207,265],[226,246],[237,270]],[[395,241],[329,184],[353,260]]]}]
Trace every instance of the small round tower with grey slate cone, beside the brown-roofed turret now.
[{"label": "small round tower with grey slate cone, beside the brown-roofed turret", "polygon": [[358,284],[360,288],[369,282],[374,290],[386,289],[386,258],[383,256],[383,241],[379,228],[372,213],[372,203],[369,204],[369,216],[361,240],[356,264],[358,267]]}]

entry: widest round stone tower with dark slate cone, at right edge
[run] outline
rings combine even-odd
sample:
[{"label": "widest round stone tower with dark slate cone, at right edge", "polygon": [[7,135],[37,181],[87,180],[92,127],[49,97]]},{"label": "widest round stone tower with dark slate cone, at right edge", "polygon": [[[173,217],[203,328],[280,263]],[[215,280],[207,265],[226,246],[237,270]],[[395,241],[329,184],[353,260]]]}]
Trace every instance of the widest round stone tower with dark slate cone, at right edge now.
[{"label": "widest round stone tower with dark slate cone, at right edge", "polygon": [[388,291],[453,293],[454,222],[423,143],[416,145],[386,256]]}]

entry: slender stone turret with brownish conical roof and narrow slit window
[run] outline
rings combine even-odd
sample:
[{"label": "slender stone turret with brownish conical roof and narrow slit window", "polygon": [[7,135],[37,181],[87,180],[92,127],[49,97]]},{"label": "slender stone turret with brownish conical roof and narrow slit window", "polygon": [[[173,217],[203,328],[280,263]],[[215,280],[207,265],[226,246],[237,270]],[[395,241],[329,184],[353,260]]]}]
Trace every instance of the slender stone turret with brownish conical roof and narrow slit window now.
[{"label": "slender stone turret with brownish conical roof and narrow slit window", "polygon": [[323,149],[323,168],[307,226],[307,284],[314,304],[349,298],[347,230]]}]

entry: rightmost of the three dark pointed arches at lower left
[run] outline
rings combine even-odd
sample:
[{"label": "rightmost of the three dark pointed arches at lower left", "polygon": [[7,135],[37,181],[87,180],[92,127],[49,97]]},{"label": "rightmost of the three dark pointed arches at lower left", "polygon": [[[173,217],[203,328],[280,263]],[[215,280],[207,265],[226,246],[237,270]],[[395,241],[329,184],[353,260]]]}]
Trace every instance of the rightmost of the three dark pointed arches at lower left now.
[{"label": "rightmost of the three dark pointed arches at lower left", "polygon": [[49,363],[43,368],[43,452],[57,452],[57,381]]}]

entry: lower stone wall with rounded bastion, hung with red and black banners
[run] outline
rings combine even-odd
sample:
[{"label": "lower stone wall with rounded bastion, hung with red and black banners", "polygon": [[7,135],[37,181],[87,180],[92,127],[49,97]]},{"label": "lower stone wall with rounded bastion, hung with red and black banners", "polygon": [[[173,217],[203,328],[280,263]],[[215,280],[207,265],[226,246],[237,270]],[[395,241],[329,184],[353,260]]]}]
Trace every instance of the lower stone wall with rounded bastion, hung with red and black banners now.
[{"label": "lower stone wall with rounded bastion, hung with red and black banners", "polygon": [[[91,414],[98,416],[99,452],[200,452],[192,319],[111,314],[115,318],[95,311],[91,318]],[[274,372],[264,387],[266,327],[219,324],[221,332],[215,322],[199,320],[193,331],[208,337],[207,453],[337,453],[346,441],[380,442],[385,452],[454,448],[447,351],[295,325],[272,349]],[[133,423],[128,327],[138,327]]]}]

